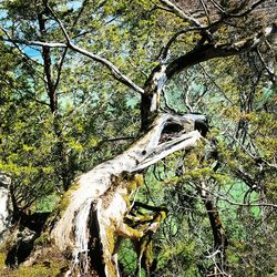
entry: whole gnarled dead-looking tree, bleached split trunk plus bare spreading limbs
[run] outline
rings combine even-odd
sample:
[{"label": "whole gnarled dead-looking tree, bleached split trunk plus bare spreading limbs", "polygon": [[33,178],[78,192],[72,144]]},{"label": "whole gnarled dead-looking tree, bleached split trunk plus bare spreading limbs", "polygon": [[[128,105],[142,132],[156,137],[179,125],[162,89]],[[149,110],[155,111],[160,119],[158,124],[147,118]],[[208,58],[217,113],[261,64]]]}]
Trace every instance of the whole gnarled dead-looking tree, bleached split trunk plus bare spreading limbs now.
[{"label": "whole gnarled dead-looking tree, bleached split trunk plus bare spreading limbs", "polygon": [[[8,41],[39,45],[44,50],[64,48],[81,53],[104,65],[115,80],[142,95],[142,126],[144,131],[148,130],[147,133],[121,155],[81,175],[75,182],[74,188],[64,196],[63,201],[68,202],[68,205],[63,213],[60,214],[61,217],[52,229],[51,237],[61,250],[69,250],[73,255],[72,267],[68,275],[71,275],[75,270],[74,268],[78,268],[79,273],[84,275],[90,270],[94,270],[99,276],[119,276],[116,238],[129,237],[130,239],[140,240],[145,235],[144,229],[132,228],[124,223],[124,217],[130,211],[127,199],[141,184],[140,177],[133,175],[175,151],[193,147],[202,137],[201,133],[194,130],[196,120],[194,116],[162,114],[150,126],[154,116],[158,113],[160,96],[166,82],[178,72],[194,64],[255,49],[266,38],[276,33],[277,30],[276,23],[274,23],[253,37],[229,44],[219,44],[209,38],[208,27],[202,25],[195,18],[184,13],[171,1],[161,0],[161,2],[167,7],[167,11],[175,12],[175,14],[187,20],[199,30],[203,37],[205,37],[205,33],[207,37],[192,51],[179,55],[167,64],[163,63],[156,66],[144,88],[140,88],[132,82],[105,58],[73,44],[54,12],[52,12],[52,16],[61,27],[65,38],[64,43],[18,40],[11,38],[4,30],[8,37],[6,40]],[[173,38],[173,41],[176,38]],[[207,41],[208,43],[205,44]],[[167,44],[167,49],[170,47],[171,42]],[[170,138],[163,141],[163,133],[167,126],[172,125],[178,125],[178,132],[171,133]],[[131,174],[130,178],[125,176],[126,172]],[[206,207],[208,211],[214,209],[208,202]],[[215,222],[218,217],[217,214],[213,213],[209,213],[209,216],[211,222]],[[218,229],[222,230],[222,226]],[[215,239],[222,242],[218,229],[215,228],[214,235],[217,235]],[[94,238],[99,244],[99,250],[102,252],[100,256],[91,255],[93,248],[96,248]],[[89,257],[91,258],[90,261]],[[101,260],[99,266],[91,268],[93,264],[96,264],[98,259]]]}]

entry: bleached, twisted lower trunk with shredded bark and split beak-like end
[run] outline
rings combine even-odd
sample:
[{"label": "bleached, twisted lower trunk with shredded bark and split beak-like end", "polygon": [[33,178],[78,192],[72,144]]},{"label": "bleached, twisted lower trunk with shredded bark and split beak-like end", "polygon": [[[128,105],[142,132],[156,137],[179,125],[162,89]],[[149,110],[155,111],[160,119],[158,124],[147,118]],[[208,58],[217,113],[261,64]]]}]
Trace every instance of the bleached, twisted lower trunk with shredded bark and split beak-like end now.
[{"label": "bleached, twisted lower trunk with shredded bark and split beak-like end", "polygon": [[[132,175],[175,151],[193,147],[202,137],[194,130],[195,121],[205,116],[161,114],[150,131],[129,150],[80,176],[76,189],[68,196],[66,209],[51,233],[54,244],[61,250],[70,249],[73,254],[73,267],[82,268],[86,273],[94,263],[91,260],[91,265],[88,264],[88,252],[92,248],[89,242],[93,240],[89,232],[90,211],[95,211],[103,256],[94,258],[103,259],[106,276],[119,276],[116,237],[134,240],[145,235],[143,230],[133,229],[124,223],[124,216],[130,211],[127,199],[141,183],[136,176],[126,179],[124,174]],[[176,125],[179,132],[167,133],[167,141],[161,142],[163,134]]]}]

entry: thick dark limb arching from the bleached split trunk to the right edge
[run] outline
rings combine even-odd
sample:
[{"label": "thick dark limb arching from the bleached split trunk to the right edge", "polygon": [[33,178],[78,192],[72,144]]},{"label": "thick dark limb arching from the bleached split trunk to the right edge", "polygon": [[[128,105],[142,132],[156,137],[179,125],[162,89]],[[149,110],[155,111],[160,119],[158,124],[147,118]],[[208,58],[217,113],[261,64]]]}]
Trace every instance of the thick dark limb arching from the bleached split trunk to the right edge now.
[{"label": "thick dark limb arching from the bleached split trunk to the right edge", "polygon": [[276,33],[277,22],[249,38],[245,38],[230,44],[198,44],[192,51],[176,58],[168,64],[157,65],[154,68],[150,78],[145,82],[144,94],[142,94],[142,129],[147,127],[151,122],[151,117],[158,111],[160,96],[168,79],[201,62],[215,58],[237,55],[243,52],[250,51],[264,42],[267,38]]}]

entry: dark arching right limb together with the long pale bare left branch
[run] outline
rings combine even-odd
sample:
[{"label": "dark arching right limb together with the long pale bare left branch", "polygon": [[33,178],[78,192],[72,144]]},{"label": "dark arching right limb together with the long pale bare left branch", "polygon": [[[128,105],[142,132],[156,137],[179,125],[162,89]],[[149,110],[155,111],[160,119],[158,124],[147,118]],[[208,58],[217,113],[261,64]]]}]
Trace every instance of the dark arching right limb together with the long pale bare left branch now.
[{"label": "dark arching right limb together with the long pale bare left branch", "polygon": [[[173,60],[170,64],[156,66],[152,71],[152,74],[150,75],[148,80],[146,81],[145,89],[142,89],[141,86],[135,84],[133,81],[131,81],[126,75],[124,75],[109,60],[101,58],[92,52],[89,52],[73,44],[70,41],[70,38],[65,29],[62,27],[61,21],[59,20],[58,22],[60,22],[62,31],[66,38],[66,43],[27,41],[27,40],[14,39],[11,37],[8,37],[8,39],[6,40],[13,41],[17,43],[22,43],[22,44],[28,44],[28,45],[37,45],[37,47],[49,47],[49,48],[66,48],[68,47],[69,49],[75,52],[79,52],[96,62],[100,62],[101,64],[103,64],[104,66],[109,69],[109,71],[112,73],[115,80],[120,81],[121,83],[124,83],[125,85],[127,85],[129,88],[133,89],[134,91],[141,94],[146,94],[145,96],[142,96],[143,125],[147,125],[145,123],[148,121],[150,114],[157,111],[158,105],[160,105],[158,101],[160,101],[161,92],[166,81],[170,78],[172,78],[174,74],[181,72],[182,70],[185,70],[188,66],[201,63],[203,61],[207,61],[207,60],[219,58],[219,57],[235,55],[244,51],[249,51],[250,49],[254,49],[258,44],[260,44],[266,38],[276,33],[276,30],[277,30],[277,23],[275,22],[270,27],[265,28],[261,32],[258,32],[250,38],[246,38],[233,44],[213,44],[213,43],[199,44],[196,48],[194,48],[192,51],[189,51],[188,53],[181,55],[177,59]],[[6,32],[6,34],[8,34],[8,32],[4,29],[2,30]]]}]

